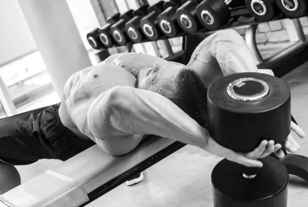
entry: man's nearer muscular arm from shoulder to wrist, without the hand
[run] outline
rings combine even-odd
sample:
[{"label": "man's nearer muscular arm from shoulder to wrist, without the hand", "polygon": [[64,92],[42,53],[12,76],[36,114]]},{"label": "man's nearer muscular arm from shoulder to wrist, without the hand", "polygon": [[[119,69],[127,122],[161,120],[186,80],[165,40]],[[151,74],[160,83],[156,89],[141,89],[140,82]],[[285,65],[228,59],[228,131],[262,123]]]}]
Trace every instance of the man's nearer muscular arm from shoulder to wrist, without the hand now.
[{"label": "man's nearer muscular arm from shoulder to wrist, without the hand", "polygon": [[[91,105],[88,126],[97,139],[153,134],[203,148],[208,132],[167,98],[146,90],[114,87]],[[106,133],[107,132],[107,133]]]}]

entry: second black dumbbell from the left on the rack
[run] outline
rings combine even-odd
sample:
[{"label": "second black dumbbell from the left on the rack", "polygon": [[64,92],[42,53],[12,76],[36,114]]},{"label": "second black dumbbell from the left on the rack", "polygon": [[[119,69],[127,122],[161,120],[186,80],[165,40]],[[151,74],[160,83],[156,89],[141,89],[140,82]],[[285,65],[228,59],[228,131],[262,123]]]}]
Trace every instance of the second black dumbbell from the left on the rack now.
[{"label": "second black dumbbell from the left on the rack", "polygon": [[110,28],[114,23],[118,22],[119,19],[120,19],[120,13],[115,13],[114,15],[109,16],[106,19],[107,24],[104,25],[99,31],[99,37],[100,37],[101,43],[106,48],[110,48],[115,44],[111,36],[111,33],[110,33]]}]

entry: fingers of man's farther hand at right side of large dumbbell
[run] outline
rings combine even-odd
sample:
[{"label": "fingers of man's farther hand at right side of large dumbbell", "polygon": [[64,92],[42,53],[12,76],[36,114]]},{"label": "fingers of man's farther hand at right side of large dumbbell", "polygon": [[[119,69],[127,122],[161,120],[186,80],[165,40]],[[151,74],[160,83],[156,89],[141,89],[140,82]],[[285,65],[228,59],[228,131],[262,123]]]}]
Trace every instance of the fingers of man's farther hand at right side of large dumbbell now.
[{"label": "fingers of man's farther hand at right side of large dumbbell", "polygon": [[[295,132],[300,138],[305,137],[305,133],[303,132],[303,130],[293,121],[291,121],[291,130]],[[291,134],[287,136],[286,140],[282,143],[282,146],[291,153],[296,153],[300,148],[299,144],[295,141]],[[280,159],[284,157],[284,153],[281,149],[277,150],[275,154]]]}]

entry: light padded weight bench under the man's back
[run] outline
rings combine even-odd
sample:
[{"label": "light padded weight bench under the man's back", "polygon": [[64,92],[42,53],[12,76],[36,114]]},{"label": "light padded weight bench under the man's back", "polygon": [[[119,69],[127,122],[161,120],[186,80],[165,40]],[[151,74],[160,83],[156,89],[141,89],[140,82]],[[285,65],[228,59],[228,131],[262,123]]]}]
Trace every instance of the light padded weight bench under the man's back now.
[{"label": "light padded weight bench under the man's back", "polygon": [[[259,72],[274,75],[271,70]],[[117,157],[95,145],[1,195],[0,207],[85,206],[185,145],[151,136],[130,153]],[[307,178],[308,158],[292,155],[283,158],[291,163],[287,169]]]}]

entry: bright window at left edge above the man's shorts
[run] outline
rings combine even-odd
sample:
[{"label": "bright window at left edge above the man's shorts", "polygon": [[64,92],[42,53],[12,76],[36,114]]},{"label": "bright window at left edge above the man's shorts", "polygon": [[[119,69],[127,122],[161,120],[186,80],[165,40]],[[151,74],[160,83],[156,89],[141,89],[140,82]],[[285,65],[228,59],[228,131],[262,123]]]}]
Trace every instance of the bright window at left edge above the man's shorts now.
[{"label": "bright window at left edge above the man's shorts", "polygon": [[[51,79],[40,52],[34,52],[1,67],[0,75],[18,113],[21,107],[30,106],[33,101],[54,93]],[[46,103],[45,106],[56,101],[59,101],[59,98]],[[39,107],[42,107],[42,105]],[[0,115],[1,113],[3,113],[3,109]]]}]

